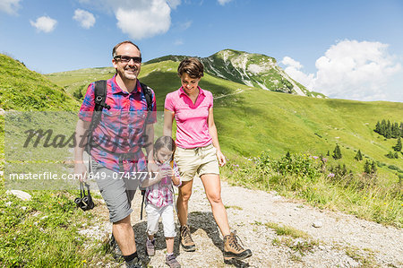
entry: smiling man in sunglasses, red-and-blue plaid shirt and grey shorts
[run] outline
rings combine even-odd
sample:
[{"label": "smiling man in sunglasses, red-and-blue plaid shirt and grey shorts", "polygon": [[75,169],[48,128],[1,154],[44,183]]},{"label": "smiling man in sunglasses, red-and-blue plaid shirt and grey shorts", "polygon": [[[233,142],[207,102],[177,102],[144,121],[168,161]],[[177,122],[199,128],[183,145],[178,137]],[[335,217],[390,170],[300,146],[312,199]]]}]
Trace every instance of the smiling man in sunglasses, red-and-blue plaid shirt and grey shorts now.
[{"label": "smiling man in sunglasses, red-and-blue plaid shirt and grey shorts", "polygon": [[[127,267],[142,267],[137,255],[134,231],[130,221],[131,202],[139,178],[147,170],[147,160],[141,151],[150,153],[156,122],[156,100],[152,90],[153,112],[147,115],[145,92],[137,79],[141,70],[140,49],[131,41],[124,41],[112,50],[112,64],[116,69],[107,80],[105,108],[99,124],[93,129],[90,141],[90,175],[97,180],[99,191],[107,203],[112,234],[116,239]],[[74,173],[84,177],[86,167],[82,160],[92,112],[95,108],[95,85],[91,83],[82,102],[76,125]],[[84,138],[83,138],[84,137]],[[144,138],[145,137],[145,138]],[[144,145],[145,144],[145,145]]]}]

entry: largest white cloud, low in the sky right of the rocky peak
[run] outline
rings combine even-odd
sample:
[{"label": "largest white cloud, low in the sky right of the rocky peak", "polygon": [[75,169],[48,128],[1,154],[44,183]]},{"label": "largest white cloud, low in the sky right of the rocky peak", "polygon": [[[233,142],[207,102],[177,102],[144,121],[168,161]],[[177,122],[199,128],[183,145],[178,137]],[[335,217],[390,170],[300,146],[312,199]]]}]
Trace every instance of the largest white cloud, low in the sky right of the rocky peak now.
[{"label": "largest white cloud, low in the sky right of the rocky peak", "polygon": [[388,82],[401,70],[387,44],[356,40],[331,46],[316,60],[316,73],[302,72],[303,65],[287,56],[281,63],[288,75],[308,89],[341,99],[387,99]]}]

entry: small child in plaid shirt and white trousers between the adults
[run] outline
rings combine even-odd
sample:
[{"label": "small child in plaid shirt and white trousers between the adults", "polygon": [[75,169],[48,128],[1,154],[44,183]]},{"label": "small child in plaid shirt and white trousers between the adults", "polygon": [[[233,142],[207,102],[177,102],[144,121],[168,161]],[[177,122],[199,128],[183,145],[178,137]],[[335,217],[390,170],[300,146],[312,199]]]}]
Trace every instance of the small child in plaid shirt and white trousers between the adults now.
[{"label": "small child in plaid shirt and white trousers between the adults", "polygon": [[147,212],[147,255],[155,255],[154,234],[159,230],[159,217],[162,218],[164,236],[167,242],[166,264],[169,267],[180,267],[174,255],[174,239],[176,237],[174,220],[174,186],[181,185],[179,170],[174,161],[176,144],[169,136],[162,136],[154,143],[154,160],[159,166],[159,173],[154,178],[145,179],[142,187],[145,193]]}]

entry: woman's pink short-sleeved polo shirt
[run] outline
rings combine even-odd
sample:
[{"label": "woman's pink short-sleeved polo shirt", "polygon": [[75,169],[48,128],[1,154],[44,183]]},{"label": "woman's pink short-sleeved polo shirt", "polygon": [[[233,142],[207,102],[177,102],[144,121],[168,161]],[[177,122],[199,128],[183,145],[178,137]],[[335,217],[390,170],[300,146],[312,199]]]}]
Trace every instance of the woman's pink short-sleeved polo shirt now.
[{"label": "woman's pink short-sleeved polo shirt", "polygon": [[189,149],[210,145],[211,136],[207,118],[212,106],[211,92],[203,91],[200,87],[195,104],[182,87],[167,94],[165,108],[175,113],[177,146]]}]

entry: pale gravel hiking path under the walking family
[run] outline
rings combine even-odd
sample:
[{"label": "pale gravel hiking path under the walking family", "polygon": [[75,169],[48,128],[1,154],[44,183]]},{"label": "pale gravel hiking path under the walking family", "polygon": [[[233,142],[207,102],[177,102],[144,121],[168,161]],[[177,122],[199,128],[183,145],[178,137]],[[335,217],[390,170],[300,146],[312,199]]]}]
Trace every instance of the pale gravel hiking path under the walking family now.
[{"label": "pale gravel hiking path under the walking family", "polygon": [[[236,229],[244,246],[253,251],[253,256],[233,265],[223,263],[222,238],[201,180],[197,178],[189,203],[189,224],[197,249],[193,253],[184,252],[176,239],[175,253],[182,267],[403,267],[402,229],[359,220],[340,212],[322,211],[276,193],[229,186],[226,182],[222,182],[222,199],[231,229]],[[99,215],[98,222],[81,230],[99,241],[105,240],[111,229],[107,209],[100,203],[102,201],[95,211]],[[146,259],[143,247],[146,221],[140,221],[140,204],[141,195],[136,194],[132,223],[138,252]],[[268,223],[301,230],[307,236],[279,236],[267,226]],[[148,260],[149,265],[167,267],[162,225],[157,235],[156,255]],[[124,264],[110,260],[110,257],[104,258],[95,266],[124,267]]]}]

